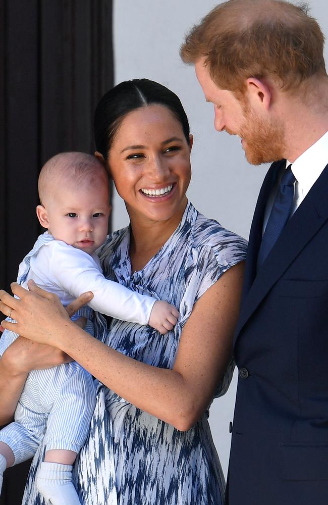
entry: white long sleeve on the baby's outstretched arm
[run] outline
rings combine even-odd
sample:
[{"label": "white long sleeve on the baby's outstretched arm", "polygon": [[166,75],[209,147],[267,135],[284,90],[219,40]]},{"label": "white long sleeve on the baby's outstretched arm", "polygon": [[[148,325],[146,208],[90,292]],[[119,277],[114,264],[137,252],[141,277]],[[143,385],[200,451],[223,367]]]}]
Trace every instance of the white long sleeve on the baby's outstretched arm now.
[{"label": "white long sleeve on the baby's outstretched arm", "polygon": [[93,298],[88,304],[91,309],[123,321],[148,324],[154,298],[105,279],[86,252],[64,242],[54,244],[49,273],[65,291],[74,297],[92,291]]}]

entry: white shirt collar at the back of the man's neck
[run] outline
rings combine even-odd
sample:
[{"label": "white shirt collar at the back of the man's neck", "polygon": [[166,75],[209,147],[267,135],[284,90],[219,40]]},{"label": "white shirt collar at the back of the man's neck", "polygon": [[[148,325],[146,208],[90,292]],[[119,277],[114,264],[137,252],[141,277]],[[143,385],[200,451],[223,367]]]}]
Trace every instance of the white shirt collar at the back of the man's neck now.
[{"label": "white shirt collar at the back of the man's neck", "polygon": [[[304,193],[307,193],[328,163],[328,132],[312,144],[292,164],[292,172]],[[286,167],[290,165],[287,160]]]}]

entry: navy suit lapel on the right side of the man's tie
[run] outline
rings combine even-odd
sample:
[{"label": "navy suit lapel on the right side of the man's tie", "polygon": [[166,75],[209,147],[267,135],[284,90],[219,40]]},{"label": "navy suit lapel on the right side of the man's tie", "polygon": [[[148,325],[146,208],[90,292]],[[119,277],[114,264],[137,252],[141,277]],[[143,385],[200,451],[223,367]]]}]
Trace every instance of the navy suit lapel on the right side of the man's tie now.
[{"label": "navy suit lapel on the right side of the man's tie", "polygon": [[[263,215],[264,205],[262,203],[259,212]],[[245,292],[241,313],[235,332],[235,340],[242,327],[256,310],[262,299],[265,297],[271,287],[283,275],[289,265],[294,261],[299,252],[317,233],[323,223],[328,219],[328,165],[315,182],[309,193],[306,195],[302,204],[297,209],[292,218],[288,221],[278,241],[272,247],[268,257],[263,263],[258,275],[255,277],[256,259],[259,247],[258,234],[261,236],[262,228],[258,226],[254,229],[254,237],[250,236],[250,241],[255,239],[256,244],[251,244],[250,257],[251,265],[249,268],[249,277],[253,275],[254,282],[249,286],[248,292]],[[262,222],[262,220],[261,220]],[[255,226],[254,226],[255,227]],[[253,228],[253,226],[252,226]],[[248,280],[248,283],[250,279]]]}]

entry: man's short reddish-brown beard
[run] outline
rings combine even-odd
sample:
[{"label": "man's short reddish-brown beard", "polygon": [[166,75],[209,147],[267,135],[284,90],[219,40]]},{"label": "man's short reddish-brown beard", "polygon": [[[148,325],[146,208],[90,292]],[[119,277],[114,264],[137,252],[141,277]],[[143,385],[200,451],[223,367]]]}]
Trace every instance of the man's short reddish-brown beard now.
[{"label": "man's short reddish-brown beard", "polygon": [[252,165],[260,165],[283,159],[285,151],[283,125],[277,120],[275,123],[264,121],[246,106],[244,117],[245,121],[238,135],[243,139],[247,161]]}]

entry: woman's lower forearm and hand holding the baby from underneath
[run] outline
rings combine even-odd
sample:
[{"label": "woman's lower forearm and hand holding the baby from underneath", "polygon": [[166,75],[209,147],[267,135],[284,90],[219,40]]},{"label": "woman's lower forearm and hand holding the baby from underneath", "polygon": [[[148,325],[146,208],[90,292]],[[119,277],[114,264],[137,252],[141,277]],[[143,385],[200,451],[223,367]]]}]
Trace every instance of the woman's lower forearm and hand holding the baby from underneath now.
[{"label": "woman's lower forearm and hand holding the baby from underneath", "polygon": [[[73,315],[91,298],[80,297],[68,308]],[[8,312],[8,311],[7,311]],[[61,349],[19,336],[0,358],[0,426],[13,420],[17,402],[31,370],[52,368],[72,361]]]}]

